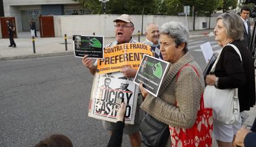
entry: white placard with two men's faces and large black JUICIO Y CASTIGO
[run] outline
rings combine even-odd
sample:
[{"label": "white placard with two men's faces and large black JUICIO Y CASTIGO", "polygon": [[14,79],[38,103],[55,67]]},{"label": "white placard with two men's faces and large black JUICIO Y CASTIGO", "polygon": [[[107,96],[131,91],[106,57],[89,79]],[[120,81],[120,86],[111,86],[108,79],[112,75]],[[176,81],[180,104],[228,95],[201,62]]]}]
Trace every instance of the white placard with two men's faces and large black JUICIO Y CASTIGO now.
[{"label": "white placard with two men's faces and large black JUICIO Y CASTIGO", "polygon": [[116,122],[117,99],[126,106],[125,123],[134,124],[139,88],[120,72],[99,74],[93,78],[88,116],[95,119]]}]

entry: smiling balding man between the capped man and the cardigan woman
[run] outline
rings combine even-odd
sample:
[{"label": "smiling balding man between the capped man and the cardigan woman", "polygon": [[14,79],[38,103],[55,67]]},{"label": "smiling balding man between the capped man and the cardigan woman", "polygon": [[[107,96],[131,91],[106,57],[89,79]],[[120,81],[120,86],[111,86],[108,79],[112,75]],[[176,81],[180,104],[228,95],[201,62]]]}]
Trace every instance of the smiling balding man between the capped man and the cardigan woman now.
[{"label": "smiling balding man between the capped man and the cardigan woman", "polygon": [[160,52],[160,42],[159,42],[159,29],[158,25],[151,22],[147,24],[146,27],[146,40],[143,44],[151,46],[151,51],[154,53],[154,56],[158,59],[163,59],[163,56]]}]

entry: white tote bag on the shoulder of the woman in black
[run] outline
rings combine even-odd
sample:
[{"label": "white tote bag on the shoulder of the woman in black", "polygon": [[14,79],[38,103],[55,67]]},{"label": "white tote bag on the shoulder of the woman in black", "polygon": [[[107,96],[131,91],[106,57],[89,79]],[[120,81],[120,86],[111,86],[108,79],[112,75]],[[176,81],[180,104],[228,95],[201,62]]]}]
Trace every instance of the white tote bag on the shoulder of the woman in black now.
[{"label": "white tote bag on the shoulder of the woman in black", "polygon": [[[234,48],[242,61],[241,54],[236,46],[234,46],[234,44],[228,45]],[[213,67],[211,67],[211,72],[214,72],[216,64],[220,59],[220,54],[215,64],[213,64]],[[205,106],[213,109],[213,119],[223,124],[234,124],[238,121],[239,99],[237,96],[237,88],[220,90],[213,85],[207,85],[203,97],[205,98]]]}]

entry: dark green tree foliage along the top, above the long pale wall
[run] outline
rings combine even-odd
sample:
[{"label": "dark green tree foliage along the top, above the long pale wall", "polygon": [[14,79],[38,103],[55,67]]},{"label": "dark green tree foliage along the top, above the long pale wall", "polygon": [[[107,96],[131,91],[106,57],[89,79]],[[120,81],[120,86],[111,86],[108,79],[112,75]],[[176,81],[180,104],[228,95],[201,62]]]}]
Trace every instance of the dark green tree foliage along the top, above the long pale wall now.
[{"label": "dark green tree foliage along the top, above the long pale wall", "polygon": [[[91,11],[92,14],[103,14],[104,4],[98,0],[74,0]],[[184,6],[195,8],[195,14],[208,15],[224,5],[223,1],[236,0],[110,0],[106,2],[106,14],[148,14],[177,15],[183,12]],[[226,4],[226,3],[225,3]],[[232,5],[233,7],[233,5]]]}]

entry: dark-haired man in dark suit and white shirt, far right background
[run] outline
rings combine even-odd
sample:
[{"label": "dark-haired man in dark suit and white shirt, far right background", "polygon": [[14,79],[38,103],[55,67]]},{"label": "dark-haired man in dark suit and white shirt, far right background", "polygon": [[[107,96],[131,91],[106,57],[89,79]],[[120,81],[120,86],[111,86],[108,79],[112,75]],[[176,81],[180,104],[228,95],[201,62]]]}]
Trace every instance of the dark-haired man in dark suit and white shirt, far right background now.
[{"label": "dark-haired man in dark suit and white shirt, far right background", "polygon": [[243,43],[245,44],[245,46],[248,48],[249,44],[250,44],[250,22],[248,21],[249,19],[249,15],[250,15],[250,7],[248,7],[247,5],[242,6],[241,8],[241,19],[242,22],[244,23],[244,40]]}]

